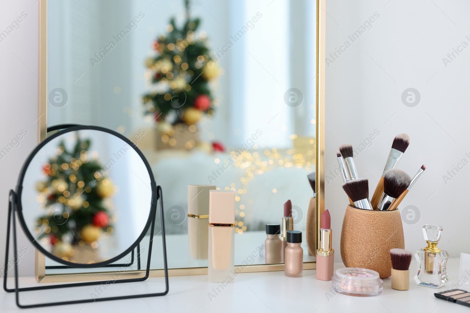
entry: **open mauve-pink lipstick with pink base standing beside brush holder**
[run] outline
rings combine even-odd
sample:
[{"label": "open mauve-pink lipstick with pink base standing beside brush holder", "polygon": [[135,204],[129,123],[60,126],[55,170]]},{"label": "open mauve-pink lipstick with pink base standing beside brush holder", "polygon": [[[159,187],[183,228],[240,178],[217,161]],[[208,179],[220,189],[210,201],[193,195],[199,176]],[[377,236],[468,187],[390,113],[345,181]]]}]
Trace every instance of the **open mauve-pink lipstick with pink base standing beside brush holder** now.
[{"label": "open mauve-pink lipstick with pink base standing beside brush holder", "polygon": [[317,249],[317,279],[330,281],[333,277],[335,250],[331,248],[331,216],[325,210],[321,214],[320,248]]}]

